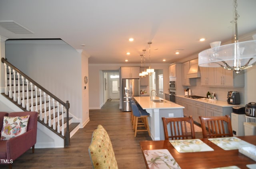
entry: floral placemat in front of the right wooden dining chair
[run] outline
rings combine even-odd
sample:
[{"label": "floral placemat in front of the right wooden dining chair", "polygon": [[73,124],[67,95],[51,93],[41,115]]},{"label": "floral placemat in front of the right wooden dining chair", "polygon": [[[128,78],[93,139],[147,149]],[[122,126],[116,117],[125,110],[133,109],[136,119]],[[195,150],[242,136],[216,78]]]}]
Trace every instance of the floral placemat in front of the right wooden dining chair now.
[{"label": "floral placemat in front of the right wooden dining chair", "polygon": [[224,150],[238,149],[240,146],[252,146],[252,144],[237,137],[208,138],[208,140]]}]

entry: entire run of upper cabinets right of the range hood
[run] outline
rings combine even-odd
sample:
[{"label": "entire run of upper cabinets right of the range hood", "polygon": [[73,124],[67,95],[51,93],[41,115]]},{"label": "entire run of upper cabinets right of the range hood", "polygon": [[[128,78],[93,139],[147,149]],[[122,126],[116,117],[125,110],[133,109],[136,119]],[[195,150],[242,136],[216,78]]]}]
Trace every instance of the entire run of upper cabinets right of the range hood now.
[{"label": "entire run of upper cabinets right of the range hood", "polygon": [[202,86],[244,86],[244,71],[235,73],[222,67],[200,67]]}]

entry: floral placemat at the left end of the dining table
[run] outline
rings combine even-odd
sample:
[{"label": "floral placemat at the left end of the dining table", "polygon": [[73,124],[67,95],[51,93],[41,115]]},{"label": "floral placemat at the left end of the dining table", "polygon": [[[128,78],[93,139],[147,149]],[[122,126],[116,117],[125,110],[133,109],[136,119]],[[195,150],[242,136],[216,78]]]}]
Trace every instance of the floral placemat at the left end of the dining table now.
[{"label": "floral placemat at the left end of the dining table", "polygon": [[143,152],[150,169],[180,169],[168,149],[152,149]]}]

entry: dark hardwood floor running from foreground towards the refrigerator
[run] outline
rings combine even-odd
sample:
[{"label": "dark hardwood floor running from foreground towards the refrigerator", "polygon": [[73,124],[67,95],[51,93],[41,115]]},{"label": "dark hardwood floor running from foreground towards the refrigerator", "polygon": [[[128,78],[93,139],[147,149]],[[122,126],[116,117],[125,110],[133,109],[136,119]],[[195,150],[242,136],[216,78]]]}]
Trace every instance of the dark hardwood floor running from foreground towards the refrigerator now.
[{"label": "dark hardwood floor running from foreground towards the refrigerator", "polygon": [[[92,169],[88,146],[92,132],[101,124],[110,136],[118,168],[144,169],[146,165],[140,149],[141,140],[151,140],[147,132],[140,132],[134,138],[130,112],[122,112],[119,102],[108,101],[100,110],[90,110],[90,122],[70,139],[70,147],[32,149],[21,155],[12,164],[13,169]],[[202,138],[202,133],[196,133]],[[8,169],[8,165],[0,165]]]}]

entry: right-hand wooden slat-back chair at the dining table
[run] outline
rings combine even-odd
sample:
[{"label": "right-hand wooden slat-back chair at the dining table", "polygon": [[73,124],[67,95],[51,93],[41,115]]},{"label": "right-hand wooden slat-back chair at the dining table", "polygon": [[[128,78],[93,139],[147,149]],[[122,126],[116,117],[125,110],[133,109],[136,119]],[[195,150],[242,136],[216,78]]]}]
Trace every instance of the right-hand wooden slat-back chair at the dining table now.
[{"label": "right-hand wooden slat-back chair at the dining table", "polygon": [[230,116],[199,116],[201,121],[203,138],[232,137]]}]

